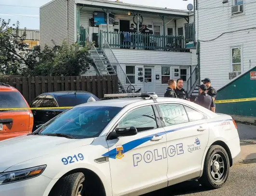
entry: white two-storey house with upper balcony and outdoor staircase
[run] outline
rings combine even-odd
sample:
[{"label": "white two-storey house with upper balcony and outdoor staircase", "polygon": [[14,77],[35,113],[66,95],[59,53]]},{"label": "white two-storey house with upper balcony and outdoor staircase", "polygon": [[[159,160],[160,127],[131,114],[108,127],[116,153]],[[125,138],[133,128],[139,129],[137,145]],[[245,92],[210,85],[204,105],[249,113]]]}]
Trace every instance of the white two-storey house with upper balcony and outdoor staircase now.
[{"label": "white two-storey house with upper balcony and outdoor staircase", "polygon": [[[137,31],[127,34],[131,24]],[[143,25],[149,34],[138,30]],[[194,36],[189,11],[119,0],[52,0],[40,7],[40,45],[95,41],[86,74],[117,74],[123,92],[132,85],[163,96],[169,79],[183,78],[191,95],[198,83]]]}]

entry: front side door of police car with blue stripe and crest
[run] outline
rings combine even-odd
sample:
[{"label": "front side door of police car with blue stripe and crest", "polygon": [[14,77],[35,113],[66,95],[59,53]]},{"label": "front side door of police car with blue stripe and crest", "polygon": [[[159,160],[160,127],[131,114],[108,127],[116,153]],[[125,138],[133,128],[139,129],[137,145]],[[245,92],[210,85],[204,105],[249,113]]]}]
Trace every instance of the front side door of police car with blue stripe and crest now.
[{"label": "front side door of police car with blue stripe and crest", "polygon": [[107,141],[113,196],[137,196],[148,187],[152,191],[167,186],[166,134],[156,119],[152,105],[138,106],[115,125],[134,126],[138,133]]}]

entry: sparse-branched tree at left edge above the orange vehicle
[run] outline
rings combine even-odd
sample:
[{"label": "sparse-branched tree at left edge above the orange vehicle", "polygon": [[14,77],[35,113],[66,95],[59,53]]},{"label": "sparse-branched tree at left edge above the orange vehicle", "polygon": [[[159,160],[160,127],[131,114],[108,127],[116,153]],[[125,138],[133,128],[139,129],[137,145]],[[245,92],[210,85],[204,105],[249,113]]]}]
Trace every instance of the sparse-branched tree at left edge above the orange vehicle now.
[{"label": "sparse-branched tree at left edge above the orange vehicle", "polygon": [[[27,44],[24,40],[27,37],[26,30],[23,35],[19,35],[19,22],[10,26],[0,18],[0,73],[18,74],[18,69],[22,63],[29,65],[34,63],[35,58],[25,58],[28,53]],[[31,57],[33,57],[31,55]]]}]

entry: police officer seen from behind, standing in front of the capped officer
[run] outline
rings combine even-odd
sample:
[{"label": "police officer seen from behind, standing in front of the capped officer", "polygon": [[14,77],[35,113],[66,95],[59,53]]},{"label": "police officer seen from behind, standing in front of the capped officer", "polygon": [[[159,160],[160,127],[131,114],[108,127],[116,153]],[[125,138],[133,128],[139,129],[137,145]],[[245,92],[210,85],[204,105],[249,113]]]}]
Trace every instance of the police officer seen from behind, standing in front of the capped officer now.
[{"label": "police officer seen from behind, standing in front of the capped officer", "polygon": [[199,86],[200,95],[195,98],[195,103],[201,105],[202,107],[215,112],[214,100],[205,91],[207,90],[206,85]]}]

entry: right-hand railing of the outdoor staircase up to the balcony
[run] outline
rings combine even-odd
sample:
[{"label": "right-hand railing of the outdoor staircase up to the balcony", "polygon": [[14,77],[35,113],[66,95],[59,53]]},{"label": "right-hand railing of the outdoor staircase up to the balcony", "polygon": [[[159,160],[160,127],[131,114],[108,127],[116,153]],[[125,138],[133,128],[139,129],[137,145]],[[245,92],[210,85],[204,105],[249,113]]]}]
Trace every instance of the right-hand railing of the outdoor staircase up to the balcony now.
[{"label": "right-hand railing of the outdoor staircase up to the balcony", "polygon": [[110,48],[110,46],[108,44],[108,41],[107,41],[106,37],[103,35],[102,31],[100,32],[100,34],[101,34],[101,37],[103,38],[101,40],[102,41],[101,47],[102,47],[103,51],[105,52],[110,65],[113,67],[113,69],[117,73],[117,76],[119,78],[121,86],[123,87],[122,90],[124,92],[127,92],[127,91],[131,92],[132,84],[131,84],[129,78],[127,77],[127,75],[123,71],[119,61],[117,60],[114,52]]}]

